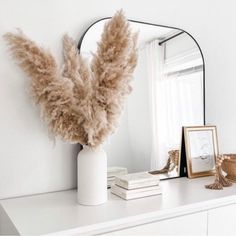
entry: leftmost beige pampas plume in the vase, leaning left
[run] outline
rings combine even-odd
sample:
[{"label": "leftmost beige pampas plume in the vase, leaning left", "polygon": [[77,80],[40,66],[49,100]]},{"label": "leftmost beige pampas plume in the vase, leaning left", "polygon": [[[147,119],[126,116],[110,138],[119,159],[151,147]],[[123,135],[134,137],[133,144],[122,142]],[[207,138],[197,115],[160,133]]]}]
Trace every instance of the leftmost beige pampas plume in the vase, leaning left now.
[{"label": "leftmost beige pampas plume in the vase, leaning left", "polygon": [[43,118],[55,136],[80,142],[86,140],[85,131],[78,126],[78,112],[73,97],[73,84],[62,77],[50,52],[38,47],[21,31],[4,35],[13,57],[31,78],[31,93],[40,105]]}]

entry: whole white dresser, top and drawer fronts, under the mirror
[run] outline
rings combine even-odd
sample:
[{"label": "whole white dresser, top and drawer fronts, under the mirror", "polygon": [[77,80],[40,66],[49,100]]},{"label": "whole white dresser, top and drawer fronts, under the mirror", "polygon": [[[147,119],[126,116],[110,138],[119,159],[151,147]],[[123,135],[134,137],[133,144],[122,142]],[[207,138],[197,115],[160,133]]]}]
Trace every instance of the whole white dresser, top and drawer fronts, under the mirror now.
[{"label": "whole white dresser, top and drawer fronts, under the mirror", "polygon": [[161,182],[163,194],[125,201],[108,192],[100,206],[80,206],[76,191],[0,201],[0,234],[236,235],[236,185],[207,190],[213,177]]}]

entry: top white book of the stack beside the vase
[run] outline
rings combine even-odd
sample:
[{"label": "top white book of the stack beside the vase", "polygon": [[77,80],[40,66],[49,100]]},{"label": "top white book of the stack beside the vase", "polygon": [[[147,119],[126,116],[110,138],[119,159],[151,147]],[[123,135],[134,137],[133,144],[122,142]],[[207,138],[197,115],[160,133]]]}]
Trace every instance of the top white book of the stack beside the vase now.
[{"label": "top white book of the stack beside the vase", "polygon": [[158,185],[159,182],[160,178],[158,175],[152,175],[148,172],[132,173],[115,178],[115,184],[126,189],[154,186]]}]

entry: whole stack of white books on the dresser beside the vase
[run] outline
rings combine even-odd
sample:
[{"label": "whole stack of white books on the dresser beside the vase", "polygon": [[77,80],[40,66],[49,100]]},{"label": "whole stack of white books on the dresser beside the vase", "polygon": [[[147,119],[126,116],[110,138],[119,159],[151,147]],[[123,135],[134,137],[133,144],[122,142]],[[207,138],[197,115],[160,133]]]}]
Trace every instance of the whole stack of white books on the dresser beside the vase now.
[{"label": "whole stack of white books on the dresser beside the vase", "polygon": [[160,178],[148,172],[133,173],[118,176],[111,186],[111,193],[125,199],[148,197],[161,194]]}]

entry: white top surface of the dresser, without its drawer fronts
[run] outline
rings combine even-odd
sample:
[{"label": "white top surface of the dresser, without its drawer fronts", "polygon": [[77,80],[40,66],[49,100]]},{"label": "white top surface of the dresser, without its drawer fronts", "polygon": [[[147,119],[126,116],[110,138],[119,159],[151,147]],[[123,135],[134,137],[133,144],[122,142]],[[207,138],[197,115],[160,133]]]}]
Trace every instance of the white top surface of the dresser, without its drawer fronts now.
[{"label": "white top surface of the dresser, without its drawer fronts", "polygon": [[122,227],[236,203],[236,186],[208,190],[213,177],[178,178],[161,181],[163,194],[125,201],[110,194],[107,203],[81,206],[76,190],[41,194],[0,201],[20,234],[74,235],[102,233]]}]

